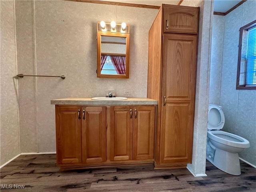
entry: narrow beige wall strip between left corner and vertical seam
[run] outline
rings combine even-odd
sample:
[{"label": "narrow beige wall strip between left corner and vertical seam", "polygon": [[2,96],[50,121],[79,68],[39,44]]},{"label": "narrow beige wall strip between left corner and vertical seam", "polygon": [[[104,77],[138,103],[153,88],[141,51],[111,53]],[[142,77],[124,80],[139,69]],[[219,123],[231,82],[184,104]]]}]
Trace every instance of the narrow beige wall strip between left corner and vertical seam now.
[{"label": "narrow beige wall strip between left corner and vertical seam", "polygon": [[[36,74],[33,6],[32,1],[16,1],[18,74]],[[21,152],[38,152],[36,78],[19,78],[18,83]]]}]

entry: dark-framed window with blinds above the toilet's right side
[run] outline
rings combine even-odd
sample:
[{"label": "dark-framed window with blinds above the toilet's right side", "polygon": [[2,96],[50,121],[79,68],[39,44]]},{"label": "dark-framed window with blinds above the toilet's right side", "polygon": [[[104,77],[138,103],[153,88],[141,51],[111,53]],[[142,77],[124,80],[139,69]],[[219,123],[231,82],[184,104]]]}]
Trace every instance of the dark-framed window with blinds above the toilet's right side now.
[{"label": "dark-framed window with blinds above the toilet's right side", "polygon": [[240,28],[236,89],[256,89],[256,20]]}]

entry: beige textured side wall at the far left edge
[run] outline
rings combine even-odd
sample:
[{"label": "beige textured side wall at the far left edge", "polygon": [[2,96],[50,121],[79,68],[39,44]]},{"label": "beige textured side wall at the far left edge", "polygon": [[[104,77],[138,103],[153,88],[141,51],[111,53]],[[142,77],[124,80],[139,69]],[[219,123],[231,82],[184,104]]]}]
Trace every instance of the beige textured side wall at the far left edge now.
[{"label": "beige textured side wall at the far left edge", "polygon": [[0,128],[1,166],[20,154],[16,76],[14,1],[0,1],[1,8],[1,86]]}]

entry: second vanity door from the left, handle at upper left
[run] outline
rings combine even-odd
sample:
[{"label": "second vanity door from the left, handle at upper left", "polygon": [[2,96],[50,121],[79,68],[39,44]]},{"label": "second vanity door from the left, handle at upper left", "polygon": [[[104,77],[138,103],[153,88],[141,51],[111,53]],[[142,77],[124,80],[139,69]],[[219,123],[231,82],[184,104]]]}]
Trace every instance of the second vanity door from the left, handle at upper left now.
[{"label": "second vanity door from the left, handle at upper left", "polygon": [[85,164],[106,161],[106,107],[82,108],[82,160]]}]

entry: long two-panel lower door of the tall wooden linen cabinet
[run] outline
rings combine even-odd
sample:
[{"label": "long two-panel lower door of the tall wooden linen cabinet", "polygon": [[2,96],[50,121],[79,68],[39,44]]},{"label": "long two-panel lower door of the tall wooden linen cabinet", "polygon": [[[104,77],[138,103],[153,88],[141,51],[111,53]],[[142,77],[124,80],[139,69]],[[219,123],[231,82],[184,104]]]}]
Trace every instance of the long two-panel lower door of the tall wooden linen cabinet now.
[{"label": "long two-panel lower door of the tall wooden linen cabinet", "polygon": [[164,34],[160,164],[192,160],[196,35]]}]

